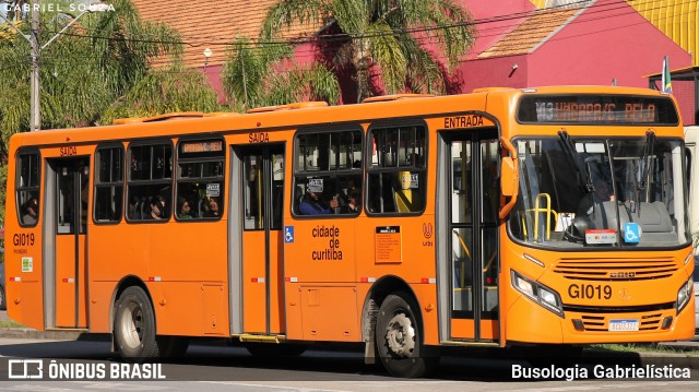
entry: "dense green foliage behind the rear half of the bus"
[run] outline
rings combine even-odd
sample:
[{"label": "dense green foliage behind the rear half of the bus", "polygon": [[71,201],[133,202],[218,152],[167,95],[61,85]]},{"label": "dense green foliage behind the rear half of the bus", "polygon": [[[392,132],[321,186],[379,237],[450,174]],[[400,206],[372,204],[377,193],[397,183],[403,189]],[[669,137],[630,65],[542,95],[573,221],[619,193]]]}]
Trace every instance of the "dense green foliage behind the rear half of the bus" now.
[{"label": "dense green foliage behind the rear half of the bus", "polygon": [[[82,15],[66,1],[40,2],[54,4],[40,13],[39,45],[46,45],[39,54],[42,129],[110,123],[117,116],[220,109],[203,73],[178,62],[179,34],[163,23],[142,21],[130,0],[109,1],[114,11]],[[14,27],[0,20],[2,155],[12,134],[29,130],[31,45],[22,34],[29,33],[31,14],[19,16]],[[153,68],[156,60],[165,66]]]}]

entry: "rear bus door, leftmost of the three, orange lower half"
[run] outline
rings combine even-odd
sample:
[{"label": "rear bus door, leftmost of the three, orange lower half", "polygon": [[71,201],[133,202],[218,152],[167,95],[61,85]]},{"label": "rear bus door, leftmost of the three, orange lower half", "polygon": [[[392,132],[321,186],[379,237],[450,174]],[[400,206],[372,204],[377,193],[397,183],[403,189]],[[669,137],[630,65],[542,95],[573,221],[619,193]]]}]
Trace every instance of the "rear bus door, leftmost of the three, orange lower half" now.
[{"label": "rear bus door, leftmost of the three, orange lower half", "polygon": [[49,202],[55,213],[55,317],[58,328],[87,326],[86,234],[90,161],[48,161],[52,173]]}]

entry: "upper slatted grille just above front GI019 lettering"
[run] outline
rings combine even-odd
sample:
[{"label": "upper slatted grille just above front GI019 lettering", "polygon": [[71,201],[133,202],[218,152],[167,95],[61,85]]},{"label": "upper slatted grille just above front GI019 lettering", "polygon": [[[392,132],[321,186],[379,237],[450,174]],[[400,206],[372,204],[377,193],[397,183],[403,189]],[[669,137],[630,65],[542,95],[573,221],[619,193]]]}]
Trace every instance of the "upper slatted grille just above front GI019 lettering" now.
[{"label": "upper slatted grille just above front GI019 lettering", "polygon": [[645,281],[670,277],[678,270],[673,259],[659,260],[561,260],[554,272],[579,281]]}]

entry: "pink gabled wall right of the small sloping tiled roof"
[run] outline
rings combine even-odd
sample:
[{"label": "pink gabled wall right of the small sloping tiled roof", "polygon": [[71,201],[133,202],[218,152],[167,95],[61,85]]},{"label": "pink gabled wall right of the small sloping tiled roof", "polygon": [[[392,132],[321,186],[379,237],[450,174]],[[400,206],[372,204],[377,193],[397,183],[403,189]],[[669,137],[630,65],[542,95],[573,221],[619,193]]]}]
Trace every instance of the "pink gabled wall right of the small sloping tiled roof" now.
[{"label": "pink gabled wall right of the small sloping tiled roof", "polygon": [[[625,5],[625,7],[624,7]],[[648,87],[649,74],[691,66],[691,56],[619,0],[600,0],[530,56],[530,86],[612,84]]]}]

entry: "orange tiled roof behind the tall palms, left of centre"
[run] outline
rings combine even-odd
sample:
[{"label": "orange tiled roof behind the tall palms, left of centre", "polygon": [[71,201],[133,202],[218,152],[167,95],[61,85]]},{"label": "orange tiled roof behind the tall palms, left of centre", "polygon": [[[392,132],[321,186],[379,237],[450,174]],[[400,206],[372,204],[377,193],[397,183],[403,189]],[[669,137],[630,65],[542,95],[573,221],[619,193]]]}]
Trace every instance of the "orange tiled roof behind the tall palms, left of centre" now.
[{"label": "orange tiled roof behind the tall palms, left of centre", "polygon": [[[204,49],[212,50],[206,64],[221,66],[235,37],[257,37],[268,10],[280,0],[131,1],[142,20],[163,22],[179,32],[185,41],[183,61],[187,67],[203,67]],[[308,36],[316,32],[316,27],[296,26],[283,35]]]}]

